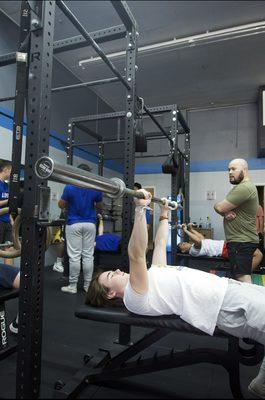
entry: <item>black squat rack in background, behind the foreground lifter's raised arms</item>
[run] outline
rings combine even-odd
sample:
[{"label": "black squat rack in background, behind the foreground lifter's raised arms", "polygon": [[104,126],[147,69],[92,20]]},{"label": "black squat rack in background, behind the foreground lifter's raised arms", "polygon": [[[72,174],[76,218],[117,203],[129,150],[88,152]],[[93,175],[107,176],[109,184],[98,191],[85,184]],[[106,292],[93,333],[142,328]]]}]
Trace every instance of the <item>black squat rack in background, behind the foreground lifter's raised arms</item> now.
[{"label": "black squat rack in background, behind the foreground lifter's raised arms", "polygon": [[[157,118],[155,117],[157,114],[163,114],[163,113],[170,113],[171,114],[171,127],[169,130],[169,133],[166,132],[166,130],[161,126],[161,124],[158,122]],[[184,219],[185,221],[189,221],[189,175],[190,175],[190,129],[178,109],[176,104],[173,105],[165,105],[165,106],[157,106],[157,107],[151,107],[147,108],[144,106],[144,110],[142,112],[143,115],[148,115],[152,121],[156,124],[158,129],[161,131],[162,135],[146,135],[147,140],[155,140],[155,139],[168,139],[170,142],[170,145],[173,149],[174,157],[178,161],[178,168],[176,174],[171,174],[171,197],[172,200],[177,198],[177,195],[179,194],[180,188],[185,188],[185,207],[184,207]],[[102,121],[102,120],[111,120],[111,119],[118,119],[118,124],[117,126],[120,126],[120,121],[123,118],[126,118],[127,114],[126,111],[117,111],[117,112],[111,112],[111,113],[104,113],[104,114],[94,114],[94,115],[85,115],[82,117],[73,117],[70,118],[68,121],[68,145],[67,145],[67,163],[70,165],[73,165],[73,151],[74,148],[77,147],[84,147],[87,146],[98,146],[98,174],[102,175],[103,174],[103,168],[104,168],[104,149],[105,145],[110,144],[110,143],[125,143],[126,145],[126,137],[124,139],[120,138],[120,131],[118,131],[118,138],[115,139],[103,139],[103,137],[92,131],[90,128],[88,128],[86,125],[84,125],[86,122],[93,122],[93,121]],[[179,129],[179,125],[181,125],[181,129]],[[76,128],[86,132],[89,136],[93,137],[95,139],[94,142],[82,142],[78,143],[76,141]],[[135,133],[135,132],[134,132]],[[179,134],[184,134],[185,135],[185,142],[184,142],[184,152],[182,152],[178,148],[178,135]],[[135,156],[135,151],[134,151],[135,146],[131,148],[131,154],[130,157],[131,159],[133,158],[133,162],[129,162],[126,158],[124,158],[124,175],[128,175],[130,178],[130,181],[134,181],[134,166],[135,166],[135,158],[138,158]],[[160,155],[156,155],[157,157]],[[163,156],[163,154],[161,154]],[[168,156],[168,154],[164,154],[164,156]],[[139,156],[140,157],[145,157]],[[150,156],[154,157],[154,156]],[[110,159],[121,159],[122,157],[113,157],[113,158],[108,158]],[[162,170],[161,170],[162,172]],[[124,176],[124,180],[126,183],[126,176]],[[129,180],[129,179],[128,179]],[[126,184],[127,187],[133,187],[133,183],[131,183],[131,186]],[[131,208],[131,202],[130,208]],[[124,207],[124,205],[123,205]],[[131,220],[126,220],[126,211],[123,208],[123,217],[122,217],[122,241],[121,241],[121,247],[122,247],[122,254],[124,254],[123,257],[123,266],[128,265],[127,264],[127,248],[128,248],[128,243],[129,243],[129,235],[128,235],[128,225],[129,227],[129,233],[131,232]],[[176,213],[172,213],[172,225],[175,226],[177,223],[177,215]],[[176,261],[177,257],[177,232],[176,230],[172,229],[171,230],[171,253],[172,253],[172,260]]]}]

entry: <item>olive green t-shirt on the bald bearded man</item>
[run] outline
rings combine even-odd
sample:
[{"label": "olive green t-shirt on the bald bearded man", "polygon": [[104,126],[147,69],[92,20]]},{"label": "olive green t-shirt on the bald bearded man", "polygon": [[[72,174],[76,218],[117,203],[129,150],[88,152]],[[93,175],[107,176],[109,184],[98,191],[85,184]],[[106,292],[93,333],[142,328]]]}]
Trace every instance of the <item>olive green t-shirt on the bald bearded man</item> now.
[{"label": "olive green t-shirt on the bald bearded man", "polygon": [[236,218],[228,221],[224,218],[224,231],[227,242],[258,243],[256,214],[258,209],[258,192],[251,181],[241,182],[234,186],[226,200],[237,206]]}]

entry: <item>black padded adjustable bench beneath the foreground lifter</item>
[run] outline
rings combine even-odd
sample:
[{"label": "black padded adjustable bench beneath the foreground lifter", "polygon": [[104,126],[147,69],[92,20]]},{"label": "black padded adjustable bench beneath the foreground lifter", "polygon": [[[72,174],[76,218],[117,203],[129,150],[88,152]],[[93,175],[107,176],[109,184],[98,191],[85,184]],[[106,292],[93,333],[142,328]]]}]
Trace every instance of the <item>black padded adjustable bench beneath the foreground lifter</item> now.
[{"label": "black padded adjustable bench beneath the foreground lifter", "polygon": [[[179,351],[172,349],[167,355],[154,354],[146,358],[139,353],[147,349],[168,333],[174,331],[191,333],[195,335],[211,336],[199,329],[192,327],[180,317],[160,316],[146,317],[134,315],[125,308],[94,308],[82,305],[76,310],[77,318],[100,321],[103,323],[119,324],[120,326],[138,326],[151,328],[152,331],[145,334],[133,344],[127,344],[122,351],[111,356],[108,349],[99,349],[95,356],[84,357],[84,366],[68,382],[57,381],[55,383],[54,398],[75,398],[84,387],[90,383],[103,385],[104,382],[113,381],[124,377],[141,375],[148,372],[177,368],[202,362],[222,365],[229,375],[231,392],[235,399],[242,399],[240,388],[239,365],[256,365],[263,358],[264,347],[253,342],[251,348],[242,348],[240,339],[228,335],[216,329],[214,336],[228,341],[227,350],[213,348],[196,348]],[[137,356],[138,358],[133,357]]]}]

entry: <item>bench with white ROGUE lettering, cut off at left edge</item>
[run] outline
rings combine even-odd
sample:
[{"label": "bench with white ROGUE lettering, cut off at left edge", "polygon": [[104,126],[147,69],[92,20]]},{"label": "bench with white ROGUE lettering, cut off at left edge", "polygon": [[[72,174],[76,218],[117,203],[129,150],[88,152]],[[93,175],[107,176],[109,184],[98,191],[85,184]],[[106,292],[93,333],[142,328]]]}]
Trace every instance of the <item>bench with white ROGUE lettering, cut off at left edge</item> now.
[{"label": "bench with white ROGUE lettering, cut off at left edge", "polygon": [[0,289],[0,360],[3,360],[17,350],[17,344],[10,346],[8,342],[5,302],[18,297],[18,294],[18,289]]}]

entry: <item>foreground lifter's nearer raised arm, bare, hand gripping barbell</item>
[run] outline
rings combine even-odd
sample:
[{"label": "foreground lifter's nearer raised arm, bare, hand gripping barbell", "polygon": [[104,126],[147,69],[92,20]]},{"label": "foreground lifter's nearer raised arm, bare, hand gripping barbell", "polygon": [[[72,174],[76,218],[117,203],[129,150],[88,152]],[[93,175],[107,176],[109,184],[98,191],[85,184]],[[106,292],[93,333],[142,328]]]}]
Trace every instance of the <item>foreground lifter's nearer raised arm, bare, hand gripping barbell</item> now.
[{"label": "foreground lifter's nearer raised arm, bare, hand gripping barbell", "polygon": [[146,209],[150,204],[151,194],[144,189],[139,191],[145,195],[145,200],[135,199],[135,217],[131,233],[128,255],[130,263],[130,283],[132,288],[140,294],[148,290],[148,278],[146,267],[146,247],[148,243],[148,233],[146,226]]}]

